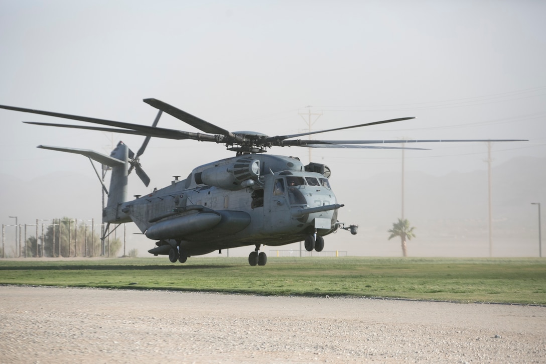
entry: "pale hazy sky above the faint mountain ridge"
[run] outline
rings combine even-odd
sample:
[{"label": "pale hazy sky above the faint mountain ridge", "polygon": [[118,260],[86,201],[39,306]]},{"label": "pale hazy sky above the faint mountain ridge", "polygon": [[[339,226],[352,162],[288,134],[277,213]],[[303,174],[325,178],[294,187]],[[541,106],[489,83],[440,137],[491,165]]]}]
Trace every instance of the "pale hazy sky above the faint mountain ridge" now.
[{"label": "pale hazy sky above the faint mountain ridge", "polygon": [[[545,2],[529,0],[0,0],[0,104],[151,125],[157,110],[141,100],[153,97],[270,136],[416,116],[314,138],[529,139],[494,143],[498,165],[546,157],[544,14]],[[22,180],[96,178],[84,157],[37,145],[108,154],[118,140],[136,151],[144,139],[21,121],[64,121],[0,110],[2,173]],[[159,126],[197,131],[169,115]],[[406,151],[407,171],[487,168],[485,143],[420,146],[432,150]],[[230,156],[220,144],[152,139],[141,162],[152,188]],[[311,159],[329,165],[341,188],[401,166],[399,150],[313,149]],[[134,178],[130,193],[143,192]]]}]

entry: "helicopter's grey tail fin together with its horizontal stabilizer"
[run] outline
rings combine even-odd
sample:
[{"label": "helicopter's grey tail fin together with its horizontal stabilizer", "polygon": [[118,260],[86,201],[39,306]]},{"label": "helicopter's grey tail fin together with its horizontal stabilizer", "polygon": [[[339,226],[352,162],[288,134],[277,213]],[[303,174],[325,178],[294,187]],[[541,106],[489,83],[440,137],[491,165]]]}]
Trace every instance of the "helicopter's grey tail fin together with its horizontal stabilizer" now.
[{"label": "helicopter's grey tail fin together with its horizontal stabilizer", "polygon": [[81,154],[111,167],[110,190],[108,203],[103,211],[103,222],[120,224],[121,222],[132,221],[128,215],[120,211],[121,204],[127,201],[127,175],[129,171],[129,148],[127,145],[119,142],[109,156],[90,149],[63,148],[48,145],[39,145],[38,148]]}]

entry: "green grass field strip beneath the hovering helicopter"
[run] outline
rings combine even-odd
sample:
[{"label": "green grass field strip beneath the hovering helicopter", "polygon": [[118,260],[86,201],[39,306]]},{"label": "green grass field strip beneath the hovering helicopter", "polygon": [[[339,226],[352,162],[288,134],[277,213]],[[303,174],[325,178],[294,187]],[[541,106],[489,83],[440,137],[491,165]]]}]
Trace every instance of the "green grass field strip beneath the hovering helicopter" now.
[{"label": "green grass field strip beneath the hovering helicopter", "polygon": [[0,284],[546,305],[546,259],[244,257],[0,260]]}]

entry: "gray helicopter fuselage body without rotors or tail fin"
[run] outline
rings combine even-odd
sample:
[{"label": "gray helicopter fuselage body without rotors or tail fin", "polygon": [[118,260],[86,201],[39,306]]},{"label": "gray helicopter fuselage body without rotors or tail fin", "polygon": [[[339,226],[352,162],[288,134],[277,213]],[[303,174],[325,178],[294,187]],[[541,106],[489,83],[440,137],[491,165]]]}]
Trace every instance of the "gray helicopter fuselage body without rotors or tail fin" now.
[{"label": "gray helicopter fuselage body without rotors or tail fin", "polygon": [[120,204],[116,221],[106,222],[134,221],[157,240],[153,254],[168,254],[178,244],[191,256],[236,246],[284,245],[315,231],[324,236],[336,228],[341,206],[328,178],[306,169],[294,157],[227,158]]}]

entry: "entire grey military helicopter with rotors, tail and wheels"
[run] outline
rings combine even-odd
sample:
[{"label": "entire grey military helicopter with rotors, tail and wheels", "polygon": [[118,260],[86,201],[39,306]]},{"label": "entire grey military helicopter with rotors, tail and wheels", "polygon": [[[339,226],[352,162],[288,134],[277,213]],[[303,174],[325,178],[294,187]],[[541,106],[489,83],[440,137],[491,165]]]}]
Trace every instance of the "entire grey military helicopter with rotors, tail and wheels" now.
[{"label": "entire grey military helicopter with rotors, tail and wheels", "polygon": [[[259,251],[262,245],[280,246],[303,241],[307,251],[322,251],[324,237],[328,234],[340,229],[357,234],[358,225],[345,226],[338,220],[339,209],[344,205],[337,202],[330,185],[331,169],[321,163],[310,162],[304,165],[298,157],[266,154],[274,146],[423,150],[424,148],[388,144],[525,141],[295,139],[312,134],[410,120],[414,117],[270,137],[252,131],[230,132],[155,98],[146,98],[144,102],[158,109],[151,126],[7,105],[0,105],[0,108],[85,121],[95,125],[45,122],[26,124],[145,136],[144,143],[136,153],[123,142],[119,142],[110,155],[88,149],[48,145],[39,145],[38,148],[84,155],[111,168],[109,189],[103,184],[108,201],[102,213],[106,228],[101,239],[104,241],[108,236],[110,224],[115,224],[117,228],[121,224],[134,222],[147,238],[156,241],[155,247],[149,253],[155,256],[168,255],[173,263],[184,263],[188,257],[216,250],[222,253],[223,249],[253,245],[255,249],[248,255],[248,263],[251,266],[264,266],[267,256],[265,252]],[[158,127],[163,112],[203,133]],[[150,193],[135,195],[134,199],[129,200],[128,175],[133,170],[146,187],[150,184],[150,177],[140,164],[140,156],[144,154],[152,137],[224,144],[228,150],[235,152],[235,156],[195,167],[186,179],[181,180],[179,176],[175,176],[169,186],[155,188]]]}]

